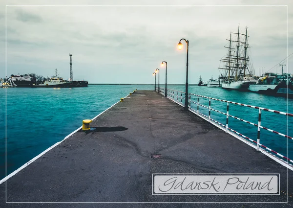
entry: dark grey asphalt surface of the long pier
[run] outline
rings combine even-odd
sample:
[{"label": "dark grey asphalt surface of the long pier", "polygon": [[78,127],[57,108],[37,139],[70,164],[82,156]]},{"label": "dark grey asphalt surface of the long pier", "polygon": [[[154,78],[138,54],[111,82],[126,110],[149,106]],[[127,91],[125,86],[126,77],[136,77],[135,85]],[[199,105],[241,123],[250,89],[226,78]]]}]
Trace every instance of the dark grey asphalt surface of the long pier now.
[{"label": "dark grey asphalt surface of the long pier", "polygon": [[[291,170],[287,181],[286,167],[154,91],[133,93],[91,127],[97,127],[95,132],[76,132],[7,180],[7,202],[16,204],[5,204],[1,184],[0,208],[292,207]],[[162,157],[152,159],[152,154]],[[281,191],[277,196],[152,195],[152,173],[279,173]],[[288,204],[249,204],[286,202],[287,195]]]}]

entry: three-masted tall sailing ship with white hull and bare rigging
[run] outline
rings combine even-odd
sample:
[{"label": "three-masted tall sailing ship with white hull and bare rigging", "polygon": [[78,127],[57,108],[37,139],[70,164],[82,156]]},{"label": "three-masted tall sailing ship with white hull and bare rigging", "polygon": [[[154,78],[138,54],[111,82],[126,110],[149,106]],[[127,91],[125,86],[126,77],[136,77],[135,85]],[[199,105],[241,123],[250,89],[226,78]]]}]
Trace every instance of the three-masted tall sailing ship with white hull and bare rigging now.
[{"label": "three-masted tall sailing ship with white hull and bare rigging", "polygon": [[[232,39],[232,34],[235,39]],[[249,44],[248,44],[247,27],[245,34],[239,32],[230,32],[229,46],[224,46],[228,48],[228,54],[225,58],[220,60],[224,63],[221,76],[219,76],[220,85],[224,89],[231,90],[248,90],[250,84],[255,84],[257,81],[253,76],[253,67],[250,63],[249,55]]]}]

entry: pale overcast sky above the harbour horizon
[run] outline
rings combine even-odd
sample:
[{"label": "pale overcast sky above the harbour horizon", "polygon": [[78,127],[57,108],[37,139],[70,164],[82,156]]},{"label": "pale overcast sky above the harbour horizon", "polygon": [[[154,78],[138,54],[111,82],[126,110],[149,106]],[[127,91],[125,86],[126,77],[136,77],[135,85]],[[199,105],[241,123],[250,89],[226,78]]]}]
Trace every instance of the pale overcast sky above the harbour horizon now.
[{"label": "pale overcast sky above the harbour horizon", "polygon": [[[161,69],[165,82],[185,83],[186,44],[189,40],[189,83],[220,74],[219,60],[227,50],[230,31],[245,32],[248,26],[251,63],[256,75],[268,71],[287,56],[287,7],[243,6],[254,1],[147,1],[163,5],[100,6],[6,6],[7,75],[36,73],[70,76],[69,53],[73,54],[73,78],[89,83],[153,83],[153,71]],[[5,77],[5,4],[1,4],[1,70]],[[23,4],[49,1],[23,0]],[[50,1],[51,4],[109,4],[109,1]],[[124,1],[140,4],[140,1]],[[238,4],[237,6],[164,4]],[[257,1],[258,4],[288,4],[288,55],[293,53],[293,3],[289,0]],[[121,3],[120,3],[121,4]],[[255,3],[254,3],[255,4]],[[290,59],[291,58],[291,59]],[[286,64],[286,60],[285,60]],[[288,72],[293,73],[293,55]],[[287,70],[286,66],[284,69]],[[271,69],[281,72],[281,67]]]}]

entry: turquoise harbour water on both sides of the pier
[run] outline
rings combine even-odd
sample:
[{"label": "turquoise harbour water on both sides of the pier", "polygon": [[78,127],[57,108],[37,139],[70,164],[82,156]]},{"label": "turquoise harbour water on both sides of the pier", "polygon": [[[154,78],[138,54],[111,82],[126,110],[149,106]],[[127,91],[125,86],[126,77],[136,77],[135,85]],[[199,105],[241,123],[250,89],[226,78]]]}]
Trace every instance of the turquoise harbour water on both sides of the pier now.
[{"label": "turquoise harbour water on both sides of the pier", "polygon": [[[184,86],[170,86],[184,91]],[[93,118],[119,101],[134,89],[153,90],[153,86],[89,86],[88,88],[8,88],[7,90],[7,174],[28,162],[42,151],[64,139],[82,125],[85,118]],[[251,92],[226,91],[220,88],[190,86],[189,92],[225,100],[261,106],[278,111],[287,110],[283,97]],[[5,89],[0,89],[0,178],[5,176]],[[208,100],[200,98],[208,105]],[[211,106],[226,112],[226,103],[211,101]],[[192,108],[196,108],[195,105]],[[293,113],[293,100],[288,100],[289,113]],[[208,115],[208,109],[200,107]],[[257,123],[258,110],[230,104],[230,115]],[[211,112],[211,117],[225,124],[226,116]],[[230,128],[256,140],[257,127],[229,118]],[[286,116],[262,113],[262,125],[287,134]],[[288,118],[289,136],[293,135],[293,118]],[[260,142],[293,158],[293,141],[261,130]],[[229,145],[229,144],[228,144]],[[248,158],[249,160],[249,158]]]}]

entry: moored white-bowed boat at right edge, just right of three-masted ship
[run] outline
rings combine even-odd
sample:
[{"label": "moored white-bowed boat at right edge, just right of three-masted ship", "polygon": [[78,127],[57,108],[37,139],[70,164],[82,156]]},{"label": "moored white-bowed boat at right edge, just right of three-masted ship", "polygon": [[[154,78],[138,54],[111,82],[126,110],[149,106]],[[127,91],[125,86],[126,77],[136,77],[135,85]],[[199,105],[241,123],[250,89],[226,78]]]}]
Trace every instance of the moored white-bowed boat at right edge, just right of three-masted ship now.
[{"label": "moored white-bowed boat at right edge, just right of three-masted ship", "polygon": [[293,77],[283,73],[267,72],[257,82],[249,86],[251,92],[258,92],[276,96],[293,97]]}]

